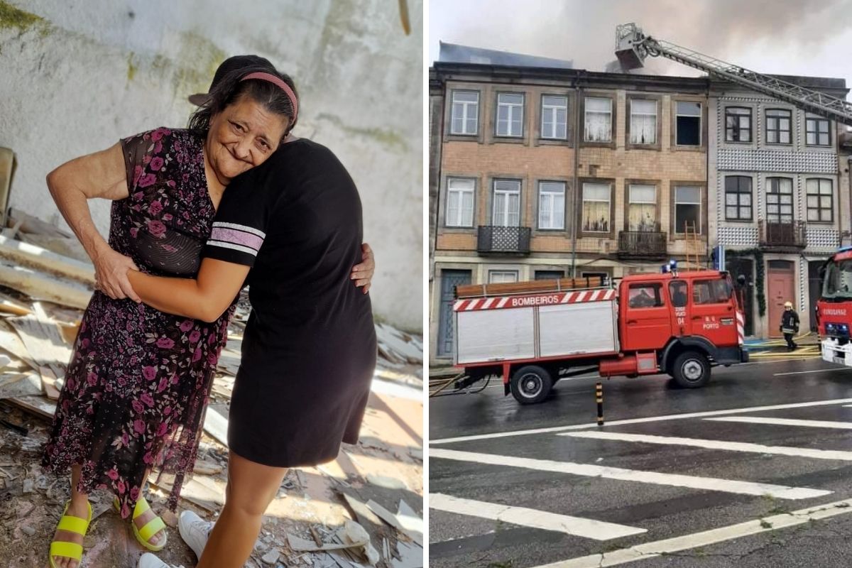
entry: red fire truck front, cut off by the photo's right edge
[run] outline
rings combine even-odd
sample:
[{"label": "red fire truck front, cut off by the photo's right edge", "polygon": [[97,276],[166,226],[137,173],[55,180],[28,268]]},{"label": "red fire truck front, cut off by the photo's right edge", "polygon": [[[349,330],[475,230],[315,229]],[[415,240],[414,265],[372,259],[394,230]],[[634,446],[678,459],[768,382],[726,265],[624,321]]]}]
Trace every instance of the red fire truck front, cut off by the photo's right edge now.
[{"label": "red fire truck front, cut off by the photo's right edge", "polygon": [[822,293],[816,302],[822,359],[852,367],[852,247],[830,256],[820,271]]}]

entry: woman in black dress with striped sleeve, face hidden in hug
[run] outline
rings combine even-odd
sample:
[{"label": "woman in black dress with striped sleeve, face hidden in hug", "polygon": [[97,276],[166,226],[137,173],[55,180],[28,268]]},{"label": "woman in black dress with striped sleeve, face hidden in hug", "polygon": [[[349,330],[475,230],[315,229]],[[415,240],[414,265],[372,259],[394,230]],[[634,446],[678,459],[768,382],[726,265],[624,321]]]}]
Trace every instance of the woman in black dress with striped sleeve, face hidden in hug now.
[{"label": "woman in black dress with striped sleeve, face hidden in hug", "polygon": [[229,187],[196,279],[128,274],[147,304],[208,320],[250,284],[227,499],[200,568],[242,566],[287,468],[331,461],[358,440],[376,364],[370,298],[349,281],[361,238],[343,165],[325,146],[287,141]]}]

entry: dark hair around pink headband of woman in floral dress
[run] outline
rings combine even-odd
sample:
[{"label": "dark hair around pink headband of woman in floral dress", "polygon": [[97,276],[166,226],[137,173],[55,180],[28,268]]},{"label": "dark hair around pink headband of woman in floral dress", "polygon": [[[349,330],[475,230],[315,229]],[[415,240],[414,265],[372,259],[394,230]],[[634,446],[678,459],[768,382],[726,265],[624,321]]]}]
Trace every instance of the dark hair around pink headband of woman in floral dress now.
[{"label": "dark hair around pink headband of woman in floral dress", "polygon": [[212,86],[210,96],[204,106],[199,107],[199,110],[193,112],[193,116],[189,118],[188,128],[197,135],[206,136],[210,130],[210,121],[216,114],[224,111],[227,106],[233,105],[240,97],[247,96],[250,100],[266,107],[269,112],[282,114],[289,118],[291,123],[287,125],[284,135],[289,134],[298,120],[297,117],[295,121],[293,120],[293,105],[290,97],[279,86],[263,79],[240,80],[254,72],[270,73],[279,77],[293,89],[293,94],[296,95],[298,102],[299,94],[296,92],[296,85],[289,75],[279,73],[273,66],[243,67],[227,73],[222,77],[222,81]]}]

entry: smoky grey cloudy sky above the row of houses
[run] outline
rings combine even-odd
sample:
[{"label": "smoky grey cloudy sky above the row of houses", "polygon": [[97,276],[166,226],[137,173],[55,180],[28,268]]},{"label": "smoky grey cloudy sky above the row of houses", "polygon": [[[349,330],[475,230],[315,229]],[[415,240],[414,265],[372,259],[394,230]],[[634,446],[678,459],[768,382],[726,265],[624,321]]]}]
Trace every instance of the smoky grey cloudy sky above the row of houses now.
[{"label": "smoky grey cloudy sky above the row of houses", "polygon": [[[615,26],[757,72],[842,77],[852,87],[852,0],[429,0],[429,61],[438,42],[573,60],[603,71]],[[646,72],[699,72],[654,58]],[[848,97],[849,98],[849,97]]]}]

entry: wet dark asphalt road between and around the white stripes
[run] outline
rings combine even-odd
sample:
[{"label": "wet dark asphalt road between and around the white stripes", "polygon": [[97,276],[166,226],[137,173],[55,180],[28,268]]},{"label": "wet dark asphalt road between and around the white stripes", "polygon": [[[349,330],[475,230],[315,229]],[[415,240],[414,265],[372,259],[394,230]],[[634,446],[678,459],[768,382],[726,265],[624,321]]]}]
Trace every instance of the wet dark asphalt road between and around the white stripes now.
[{"label": "wet dark asphalt road between and around the white stripes", "polygon": [[[840,402],[852,399],[852,369],[837,368],[819,359],[764,361],[728,369],[716,368],[711,382],[696,390],[674,387],[667,376],[611,379],[604,382],[607,424],[600,429],[593,425],[597,380],[584,377],[558,382],[550,398],[536,405],[521,406],[511,396],[504,397],[502,385],[497,382],[492,382],[479,394],[429,400],[430,450],[470,452],[466,456],[486,454],[492,460],[493,456],[498,456],[497,463],[430,456],[430,494],[470,500],[474,509],[479,502],[526,508],[532,511],[521,520],[531,516],[534,519],[532,523],[526,520],[513,523],[430,508],[430,566],[527,568],[549,565],[852,498],[852,457],[815,459],[762,451],[733,451],[726,447],[706,449],[559,435],[600,430],[852,451],[852,429],[707,419],[713,416],[660,419],[685,413],[743,409],[722,416],[852,422],[852,407],[844,406],[852,404],[852,400]],[[814,401],[838,402],[749,410],[758,406]],[[618,424],[636,418],[652,420]],[[578,426],[557,429],[573,425]],[[538,428],[554,430],[524,433]],[[474,439],[442,441],[465,436]],[[830,493],[796,499],[743,495],[634,479],[555,473],[519,467],[516,462],[513,465],[512,458],[715,478],[726,480],[723,487],[728,487],[727,480],[737,480]],[[766,526],[764,528],[772,530],[637,559],[625,565],[666,568],[850,566],[852,508],[848,512],[843,510],[832,518],[789,528]],[[553,521],[552,516],[538,513],[595,519],[646,532],[593,540],[566,534],[556,527],[551,530],[548,523]],[[536,525],[545,528],[536,528]],[[567,563],[566,568],[597,564],[597,560],[576,560],[574,564]]]}]

